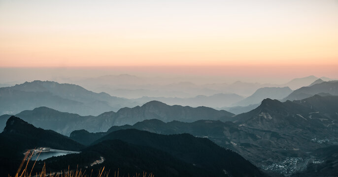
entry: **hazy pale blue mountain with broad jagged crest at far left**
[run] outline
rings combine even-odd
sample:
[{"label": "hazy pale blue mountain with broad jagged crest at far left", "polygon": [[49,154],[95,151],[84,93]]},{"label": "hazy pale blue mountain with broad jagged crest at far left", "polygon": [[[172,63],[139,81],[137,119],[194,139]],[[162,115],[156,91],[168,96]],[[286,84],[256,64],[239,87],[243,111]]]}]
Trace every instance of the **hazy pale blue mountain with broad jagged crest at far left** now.
[{"label": "hazy pale blue mountain with broad jagged crest at far left", "polygon": [[99,115],[117,111],[125,106],[136,106],[128,99],[95,93],[73,84],[51,81],[25,82],[13,87],[0,88],[0,114],[17,114],[46,106],[79,115]]}]

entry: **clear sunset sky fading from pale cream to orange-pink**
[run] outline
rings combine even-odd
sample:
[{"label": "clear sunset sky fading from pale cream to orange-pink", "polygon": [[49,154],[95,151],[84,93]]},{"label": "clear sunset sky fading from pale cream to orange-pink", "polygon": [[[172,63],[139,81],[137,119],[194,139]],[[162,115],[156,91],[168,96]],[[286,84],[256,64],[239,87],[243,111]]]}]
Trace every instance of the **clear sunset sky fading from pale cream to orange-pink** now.
[{"label": "clear sunset sky fading from pale cream to orange-pink", "polygon": [[0,68],[338,78],[337,31],[338,0],[0,0]]}]

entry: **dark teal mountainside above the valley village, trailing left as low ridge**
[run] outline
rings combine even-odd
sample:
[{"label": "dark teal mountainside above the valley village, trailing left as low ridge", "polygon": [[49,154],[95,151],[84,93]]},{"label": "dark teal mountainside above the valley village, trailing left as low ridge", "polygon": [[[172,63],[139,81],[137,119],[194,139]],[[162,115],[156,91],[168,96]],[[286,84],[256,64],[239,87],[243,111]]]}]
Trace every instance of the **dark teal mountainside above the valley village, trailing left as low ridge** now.
[{"label": "dark teal mountainside above the valley village, trailing left as low ridge", "polygon": [[[338,143],[338,96],[314,95],[301,101],[265,99],[256,109],[237,115],[234,122],[195,122],[158,119],[112,126],[106,132],[73,131],[70,138],[90,145],[110,132],[135,128],[160,134],[190,133],[232,149],[257,166],[269,167],[289,157],[310,159],[307,152]],[[273,160],[272,160],[273,159]],[[275,172],[286,173],[283,166]]]}]

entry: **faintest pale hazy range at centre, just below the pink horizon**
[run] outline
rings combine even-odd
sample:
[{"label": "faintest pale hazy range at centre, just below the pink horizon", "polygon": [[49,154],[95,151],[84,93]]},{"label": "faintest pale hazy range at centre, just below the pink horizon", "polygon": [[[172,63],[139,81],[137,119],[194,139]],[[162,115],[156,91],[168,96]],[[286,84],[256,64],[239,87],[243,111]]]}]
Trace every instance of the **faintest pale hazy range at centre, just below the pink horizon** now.
[{"label": "faintest pale hazy range at centre, just below the pink horizon", "polygon": [[201,87],[192,82],[181,81],[180,78],[138,77],[129,74],[106,75],[76,81],[66,80],[66,82],[129,99],[142,96],[184,98],[220,92],[219,90]]}]

